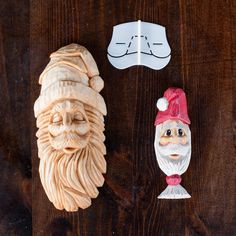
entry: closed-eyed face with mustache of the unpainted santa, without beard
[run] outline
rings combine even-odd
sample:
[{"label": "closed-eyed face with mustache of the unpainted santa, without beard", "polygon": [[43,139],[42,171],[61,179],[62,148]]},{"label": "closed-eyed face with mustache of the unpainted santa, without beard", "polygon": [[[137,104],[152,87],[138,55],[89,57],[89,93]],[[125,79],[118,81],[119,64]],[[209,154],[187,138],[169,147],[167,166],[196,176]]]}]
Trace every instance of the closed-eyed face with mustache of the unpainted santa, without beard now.
[{"label": "closed-eyed face with mustache of the unpainted santa, without beard", "polygon": [[76,100],[57,102],[51,110],[48,130],[50,143],[56,150],[74,153],[84,148],[90,137],[84,105]]}]

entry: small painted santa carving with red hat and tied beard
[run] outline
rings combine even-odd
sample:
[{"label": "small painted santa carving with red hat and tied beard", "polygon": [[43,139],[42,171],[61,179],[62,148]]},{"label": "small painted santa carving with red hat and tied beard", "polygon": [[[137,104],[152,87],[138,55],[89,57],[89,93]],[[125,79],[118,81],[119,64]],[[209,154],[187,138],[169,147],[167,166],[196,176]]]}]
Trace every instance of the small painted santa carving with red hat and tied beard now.
[{"label": "small painted santa carving with red hat and tied beard", "polygon": [[180,185],[181,175],[187,170],[191,158],[190,120],[185,93],[180,88],[168,88],[157,101],[155,120],[155,153],[159,167],[167,175],[168,186],[160,199],[190,198]]}]

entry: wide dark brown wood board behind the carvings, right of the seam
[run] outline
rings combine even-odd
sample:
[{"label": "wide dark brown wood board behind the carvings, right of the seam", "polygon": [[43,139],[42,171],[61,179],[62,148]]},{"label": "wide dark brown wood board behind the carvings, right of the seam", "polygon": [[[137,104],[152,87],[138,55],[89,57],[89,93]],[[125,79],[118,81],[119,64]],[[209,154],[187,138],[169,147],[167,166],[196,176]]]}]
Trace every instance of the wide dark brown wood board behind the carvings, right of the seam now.
[{"label": "wide dark brown wood board behind the carvings, right of the seam", "polygon": [[[31,89],[57,48],[86,46],[105,81],[108,106],[108,173],[98,199],[86,211],[56,211],[40,186],[33,162],[33,230],[62,218],[73,235],[233,235],[235,147],[233,145],[233,1],[33,1],[31,5]],[[161,71],[123,71],[106,58],[112,26],[142,19],[164,25],[172,47]],[[35,55],[37,59],[34,60]],[[183,176],[190,200],[158,200],[164,175],[154,150],[155,102],[169,86],[183,87],[192,120],[193,155]],[[235,129],[234,129],[235,131]],[[228,160],[226,160],[228,159]],[[43,207],[42,207],[43,205]],[[66,226],[67,227],[67,226]]]}]

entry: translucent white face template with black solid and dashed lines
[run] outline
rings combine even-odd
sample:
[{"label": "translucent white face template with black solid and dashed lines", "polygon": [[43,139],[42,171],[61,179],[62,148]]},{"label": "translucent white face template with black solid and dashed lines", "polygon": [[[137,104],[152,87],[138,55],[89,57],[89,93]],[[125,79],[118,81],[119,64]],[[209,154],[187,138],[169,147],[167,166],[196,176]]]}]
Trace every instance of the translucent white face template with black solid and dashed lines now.
[{"label": "translucent white face template with black solid and dashed lines", "polygon": [[164,68],[171,58],[165,27],[140,20],[114,26],[107,57],[118,69],[134,65]]}]

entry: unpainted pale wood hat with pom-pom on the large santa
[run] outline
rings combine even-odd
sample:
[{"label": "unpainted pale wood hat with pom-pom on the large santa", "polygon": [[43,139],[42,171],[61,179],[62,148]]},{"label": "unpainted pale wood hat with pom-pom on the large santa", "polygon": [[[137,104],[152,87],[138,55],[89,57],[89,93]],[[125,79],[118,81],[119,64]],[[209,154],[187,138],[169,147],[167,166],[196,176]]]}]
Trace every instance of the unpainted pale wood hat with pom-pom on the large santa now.
[{"label": "unpainted pale wood hat with pom-pom on the large santa", "polygon": [[39,77],[42,87],[34,104],[35,117],[64,99],[79,100],[106,115],[106,105],[99,94],[104,82],[89,51],[70,44],[52,53],[50,59]]}]

